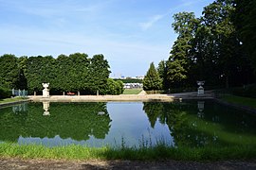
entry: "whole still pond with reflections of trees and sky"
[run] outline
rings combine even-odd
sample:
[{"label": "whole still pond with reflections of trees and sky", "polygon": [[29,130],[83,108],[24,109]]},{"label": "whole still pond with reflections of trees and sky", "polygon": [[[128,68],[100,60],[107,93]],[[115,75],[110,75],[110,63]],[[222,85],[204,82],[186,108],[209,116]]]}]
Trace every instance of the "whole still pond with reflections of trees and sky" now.
[{"label": "whole still pond with reflections of trees and sky", "polygon": [[0,109],[0,141],[88,146],[256,146],[256,115],[213,102],[24,103]]}]

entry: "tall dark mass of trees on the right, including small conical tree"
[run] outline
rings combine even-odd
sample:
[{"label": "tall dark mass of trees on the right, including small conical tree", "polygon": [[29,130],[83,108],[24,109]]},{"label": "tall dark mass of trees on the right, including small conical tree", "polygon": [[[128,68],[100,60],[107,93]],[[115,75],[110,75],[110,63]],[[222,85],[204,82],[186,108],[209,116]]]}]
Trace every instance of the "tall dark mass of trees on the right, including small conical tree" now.
[{"label": "tall dark mass of trees on the right, including small conical tree", "polygon": [[[178,36],[170,57],[157,69],[151,64],[144,89],[190,88],[197,80],[212,88],[254,83],[255,17],[256,0],[216,0],[199,18],[193,12],[174,14],[172,26]],[[152,72],[156,75],[150,76]],[[148,88],[153,81],[157,83]]]}]

